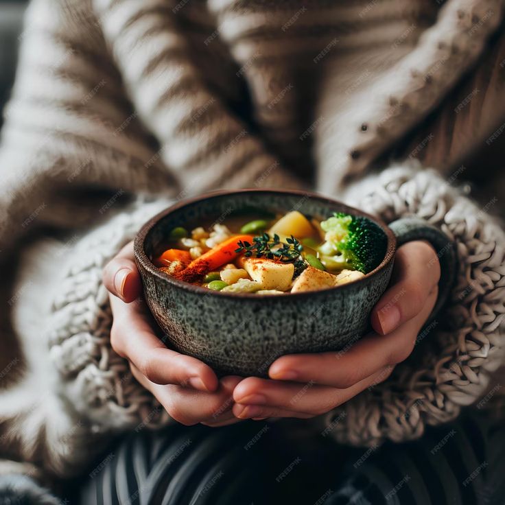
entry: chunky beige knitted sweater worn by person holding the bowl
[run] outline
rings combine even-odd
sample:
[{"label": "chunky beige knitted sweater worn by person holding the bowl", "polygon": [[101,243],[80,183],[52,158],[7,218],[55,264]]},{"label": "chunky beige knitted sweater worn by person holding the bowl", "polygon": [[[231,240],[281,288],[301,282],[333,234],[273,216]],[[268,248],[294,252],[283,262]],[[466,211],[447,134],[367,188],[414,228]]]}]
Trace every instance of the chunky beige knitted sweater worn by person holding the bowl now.
[{"label": "chunky beige knitted sweater worn by person holding the bowl", "polygon": [[[469,138],[501,133],[503,76],[468,86],[500,62],[503,37],[486,41],[503,10],[33,0],[0,150],[1,454],[69,475],[100,449],[90,440],[170,422],[110,347],[101,272],[156,211],[223,187],[312,186],[387,222],[419,215],[457,244],[445,312],[384,384],[317,420],[326,434],[406,440],[482,397],[504,360],[505,235],[490,215],[498,197],[469,200],[454,166]],[[447,131],[374,171],[435,108]],[[412,161],[426,156],[438,172]]]}]

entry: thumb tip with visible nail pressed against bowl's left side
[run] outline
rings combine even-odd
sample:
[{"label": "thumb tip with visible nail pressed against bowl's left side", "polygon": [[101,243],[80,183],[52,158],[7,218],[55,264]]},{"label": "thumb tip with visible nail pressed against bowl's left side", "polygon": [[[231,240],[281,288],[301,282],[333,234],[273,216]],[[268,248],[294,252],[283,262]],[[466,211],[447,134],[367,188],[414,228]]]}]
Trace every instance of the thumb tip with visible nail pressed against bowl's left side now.
[{"label": "thumb tip with visible nail pressed against bowl's left side", "polygon": [[133,242],[129,242],[111,259],[102,272],[102,280],[110,293],[130,303],[142,291],[139,270],[134,261]]}]

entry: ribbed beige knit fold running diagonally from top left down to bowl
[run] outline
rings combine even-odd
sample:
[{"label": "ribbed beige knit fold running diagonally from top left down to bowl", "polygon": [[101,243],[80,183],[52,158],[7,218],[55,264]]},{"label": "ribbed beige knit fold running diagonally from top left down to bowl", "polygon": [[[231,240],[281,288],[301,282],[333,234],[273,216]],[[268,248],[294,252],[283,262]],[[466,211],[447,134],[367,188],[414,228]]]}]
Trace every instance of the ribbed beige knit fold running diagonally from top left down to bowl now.
[{"label": "ribbed beige knit fold running diagonally from top left down to bowl", "polygon": [[[198,3],[93,0],[135,116],[185,195],[214,187],[301,187],[233,111],[244,107],[240,71]],[[191,27],[183,30],[182,26]]]}]

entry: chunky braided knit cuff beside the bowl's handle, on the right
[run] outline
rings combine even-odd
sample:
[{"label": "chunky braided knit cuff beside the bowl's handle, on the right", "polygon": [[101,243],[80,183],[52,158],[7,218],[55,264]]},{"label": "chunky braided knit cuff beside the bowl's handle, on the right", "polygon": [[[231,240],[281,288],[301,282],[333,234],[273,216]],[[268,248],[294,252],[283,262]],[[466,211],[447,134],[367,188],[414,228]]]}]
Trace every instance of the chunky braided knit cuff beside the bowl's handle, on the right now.
[{"label": "chunky braided knit cuff beside the bowl's handle, on the right", "polygon": [[388,169],[352,187],[347,201],[386,222],[419,216],[456,243],[456,285],[412,355],[384,383],[325,416],[325,433],[341,442],[416,438],[482,396],[504,362],[505,235],[488,215],[495,201],[479,208],[430,170]]}]

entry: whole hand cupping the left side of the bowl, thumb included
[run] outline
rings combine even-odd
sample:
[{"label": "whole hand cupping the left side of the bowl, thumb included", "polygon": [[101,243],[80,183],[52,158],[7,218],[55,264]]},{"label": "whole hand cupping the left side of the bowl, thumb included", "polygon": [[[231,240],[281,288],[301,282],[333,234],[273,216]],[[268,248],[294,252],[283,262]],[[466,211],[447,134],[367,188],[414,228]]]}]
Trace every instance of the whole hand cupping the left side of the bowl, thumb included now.
[{"label": "whole hand cupping the left side of the bowl, thumb included", "polygon": [[154,333],[154,320],[139,298],[142,283],[132,242],[106,265],[103,281],[110,292],[113,312],[110,344],[130,362],[134,377],[152,392],[168,414],[185,425],[223,426],[239,422],[231,409],[233,390],[242,377],[218,380],[208,365],[167,349]]}]

